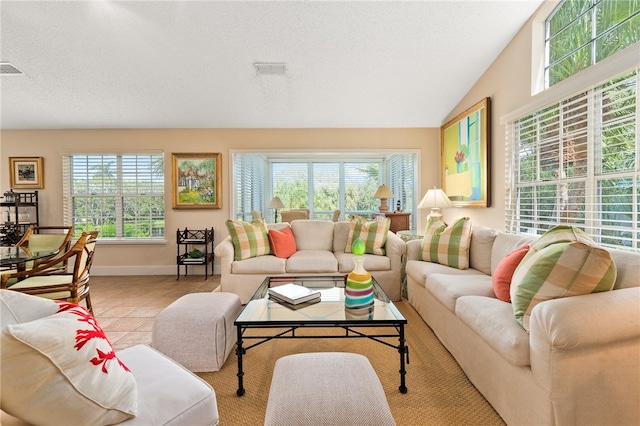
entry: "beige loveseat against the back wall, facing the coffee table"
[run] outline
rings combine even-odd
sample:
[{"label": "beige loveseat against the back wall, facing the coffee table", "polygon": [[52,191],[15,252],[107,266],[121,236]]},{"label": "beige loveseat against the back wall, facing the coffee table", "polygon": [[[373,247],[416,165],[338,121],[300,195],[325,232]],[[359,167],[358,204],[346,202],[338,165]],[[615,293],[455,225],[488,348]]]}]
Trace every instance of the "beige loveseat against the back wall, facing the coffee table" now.
[{"label": "beige loveseat against the back wall, facing the coffee table", "polygon": [[[344,275],[353,270],[353,254],[345,253],[349,222],[294,220],[269,224],[269,229],[291,227],[297,251],[288,259],[273,255],[234,260],[234,247],[227,236],[214,250],[220,259],[220,291],[235,293],[247,303],[267,276]],[[385,255],[365,254],[364,268],[392,300],[400,300],[402,255],[405,243],[393,232],[387,234]]]}]

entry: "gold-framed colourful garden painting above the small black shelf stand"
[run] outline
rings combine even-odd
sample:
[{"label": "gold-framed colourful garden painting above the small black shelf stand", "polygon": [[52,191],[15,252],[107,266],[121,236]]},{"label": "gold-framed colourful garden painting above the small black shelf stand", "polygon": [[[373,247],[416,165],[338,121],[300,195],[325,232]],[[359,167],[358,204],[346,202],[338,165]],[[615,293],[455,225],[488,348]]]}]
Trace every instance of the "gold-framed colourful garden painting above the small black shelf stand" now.
[{"label": "gold-framed colourful garden painting above the small black shelf stand", "polygon": [[174,209],[222,207],[222,154],[171,154]]}]

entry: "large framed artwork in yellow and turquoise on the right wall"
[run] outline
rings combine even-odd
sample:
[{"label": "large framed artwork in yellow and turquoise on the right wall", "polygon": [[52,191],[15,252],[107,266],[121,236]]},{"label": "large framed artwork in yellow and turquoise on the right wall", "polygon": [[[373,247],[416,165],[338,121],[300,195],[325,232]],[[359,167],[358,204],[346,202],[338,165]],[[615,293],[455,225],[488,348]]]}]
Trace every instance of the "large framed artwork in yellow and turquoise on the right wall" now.
[{"label": "large framed artwork in yellow and turquoise on the right wall", "polygon": [[489,207],[490,98],[440,128],[441,185],[456,207]]}]

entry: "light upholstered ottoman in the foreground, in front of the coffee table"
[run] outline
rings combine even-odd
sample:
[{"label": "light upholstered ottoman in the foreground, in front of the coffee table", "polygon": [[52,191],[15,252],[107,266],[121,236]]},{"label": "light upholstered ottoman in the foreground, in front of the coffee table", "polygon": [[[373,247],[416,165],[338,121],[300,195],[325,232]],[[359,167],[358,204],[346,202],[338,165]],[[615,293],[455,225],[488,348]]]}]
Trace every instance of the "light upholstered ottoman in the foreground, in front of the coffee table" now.
[{"label": "light upholstered ottoman in the foreground, in front of the coffee table", "polygon": [[365,356],[317,352],[276,361],[264,424],[396,423],[380,379]]}]

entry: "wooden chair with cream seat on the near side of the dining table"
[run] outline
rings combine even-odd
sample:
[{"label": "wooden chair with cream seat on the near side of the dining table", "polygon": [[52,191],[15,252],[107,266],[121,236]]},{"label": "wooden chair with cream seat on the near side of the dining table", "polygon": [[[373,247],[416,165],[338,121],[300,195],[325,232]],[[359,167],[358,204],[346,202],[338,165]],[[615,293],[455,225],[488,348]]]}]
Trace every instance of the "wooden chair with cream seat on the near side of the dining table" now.
[{"label": "wooden chair with cream seat on the near side of the dining table", "polygon": [[[89,270],[93,263],[97,237],[98,231],[83,232],[78,241],[61,256],[26,271],[0,275],[0,288],[70,303],[84,300],[89,312],[93,313]],[[52,272],[51,268],[60,262],[73,264],[73,270],[65,273]],[[17,279],[17,282],[12,284],[13,279]]]}]

